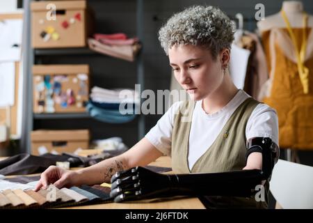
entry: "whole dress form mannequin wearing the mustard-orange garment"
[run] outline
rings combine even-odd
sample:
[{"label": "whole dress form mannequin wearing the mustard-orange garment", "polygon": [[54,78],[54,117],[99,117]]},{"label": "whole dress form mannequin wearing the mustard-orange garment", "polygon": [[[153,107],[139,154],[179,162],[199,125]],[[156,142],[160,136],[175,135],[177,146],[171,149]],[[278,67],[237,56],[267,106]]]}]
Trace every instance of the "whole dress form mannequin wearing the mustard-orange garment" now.
[{"label": "whole dress form mannequin wearing the mustard-orange garment", "polygon": [[[292,148],[285,154],[287,160],[295,162],[299,160],[294,150],[313,149],[308,140],[312,138],[313,121],[305,115],[313,111],[313,16],[307,15],[305,24],[305,15],[301,1],[284,1],[280,12],[257,23],[270,70],[259,100],[278,112],[280,148]],[[305,69],[308,72],[303,72]]]}]

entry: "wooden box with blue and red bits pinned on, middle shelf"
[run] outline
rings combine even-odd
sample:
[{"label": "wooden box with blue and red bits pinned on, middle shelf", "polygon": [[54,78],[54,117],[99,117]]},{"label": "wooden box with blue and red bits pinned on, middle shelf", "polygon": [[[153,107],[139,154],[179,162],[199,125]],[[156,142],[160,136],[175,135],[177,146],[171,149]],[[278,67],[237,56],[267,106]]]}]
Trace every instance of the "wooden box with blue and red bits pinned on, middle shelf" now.
[{"label": "wooden box with blue and red bits pinned on, middle shelf", "polygon": [[88,65],[33,66],[33,112],[86,112]]}]

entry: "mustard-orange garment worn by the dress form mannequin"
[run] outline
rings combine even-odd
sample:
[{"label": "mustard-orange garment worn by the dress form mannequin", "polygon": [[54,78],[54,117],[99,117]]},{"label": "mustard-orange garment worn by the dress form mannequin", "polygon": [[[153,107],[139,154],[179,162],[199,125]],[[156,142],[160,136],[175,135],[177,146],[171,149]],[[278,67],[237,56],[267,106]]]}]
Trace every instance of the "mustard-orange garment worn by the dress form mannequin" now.
[{"label": "mustard-orange garment worn by the dress form mannequin", "polygon": [[273,28],[262,32],[270,78],[259,98],[278,112],[280,148],[313,150],[313,33],[308,27],[291,29],[298,49],[303,38],[307,40],[303,65],[309,71],[308,91],[303,91],[296,47],[288,29]]}]

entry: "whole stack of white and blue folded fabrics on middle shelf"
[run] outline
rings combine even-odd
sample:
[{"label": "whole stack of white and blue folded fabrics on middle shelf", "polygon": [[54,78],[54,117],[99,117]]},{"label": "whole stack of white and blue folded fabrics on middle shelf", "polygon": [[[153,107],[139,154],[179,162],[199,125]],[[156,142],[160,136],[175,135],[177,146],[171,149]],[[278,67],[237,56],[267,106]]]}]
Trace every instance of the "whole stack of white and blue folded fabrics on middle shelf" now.
[{"label": "whole stack of white and blue folded fabrics on middle shelf", "polygon": [[86,106],[90,116],[105,123],[127,123],[136,117],[135,108],[140,103],[136,91],[131,89],[91,89]]}]

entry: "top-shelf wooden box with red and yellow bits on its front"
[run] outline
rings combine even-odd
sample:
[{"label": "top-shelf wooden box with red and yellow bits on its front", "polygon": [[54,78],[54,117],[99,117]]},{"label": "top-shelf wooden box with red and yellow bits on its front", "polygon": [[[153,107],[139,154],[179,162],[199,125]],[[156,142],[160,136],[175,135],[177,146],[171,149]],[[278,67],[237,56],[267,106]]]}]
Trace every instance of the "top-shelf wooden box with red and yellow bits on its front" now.
[{"label": "top-shelf wooden box with red and yellow bits on its front", "polygon": [[33,48],[86,47],[93,17],[86,1],[31,2]]}]

